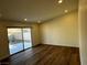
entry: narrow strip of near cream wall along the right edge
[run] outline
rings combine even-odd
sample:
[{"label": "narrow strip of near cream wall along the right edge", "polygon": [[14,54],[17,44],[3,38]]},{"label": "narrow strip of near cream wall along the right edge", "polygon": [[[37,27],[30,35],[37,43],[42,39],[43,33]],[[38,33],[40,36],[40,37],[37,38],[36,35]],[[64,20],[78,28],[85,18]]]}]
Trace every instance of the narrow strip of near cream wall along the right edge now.
[{"label": "narrow strip of near cream wall along the right edge", "polygon": [[81,65],[87,65],[87,0],[79,0],[79,47]]}]

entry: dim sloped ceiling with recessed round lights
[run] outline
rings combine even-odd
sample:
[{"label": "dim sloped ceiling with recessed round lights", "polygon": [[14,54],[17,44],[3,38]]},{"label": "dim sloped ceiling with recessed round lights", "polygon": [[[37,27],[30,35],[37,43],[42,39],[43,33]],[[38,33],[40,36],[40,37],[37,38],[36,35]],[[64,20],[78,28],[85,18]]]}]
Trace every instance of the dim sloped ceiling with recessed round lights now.
[{"label": "dim sloped ceiling with recessed round lights", "polygon": [[30,22],[45,21],[78,9],[78,0],[0,0],[0,15],[2,19]]}]

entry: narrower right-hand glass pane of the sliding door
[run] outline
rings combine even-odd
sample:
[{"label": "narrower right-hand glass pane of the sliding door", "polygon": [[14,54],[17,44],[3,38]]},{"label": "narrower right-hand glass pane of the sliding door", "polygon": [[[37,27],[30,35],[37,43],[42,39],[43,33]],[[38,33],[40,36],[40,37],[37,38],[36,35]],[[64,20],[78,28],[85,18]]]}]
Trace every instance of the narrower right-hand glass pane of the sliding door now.
[{"label": "narrower right-hand glass pane of the sliding door", "polygon": [[24,48],[32,47],[31,29],[23,29]]}]

